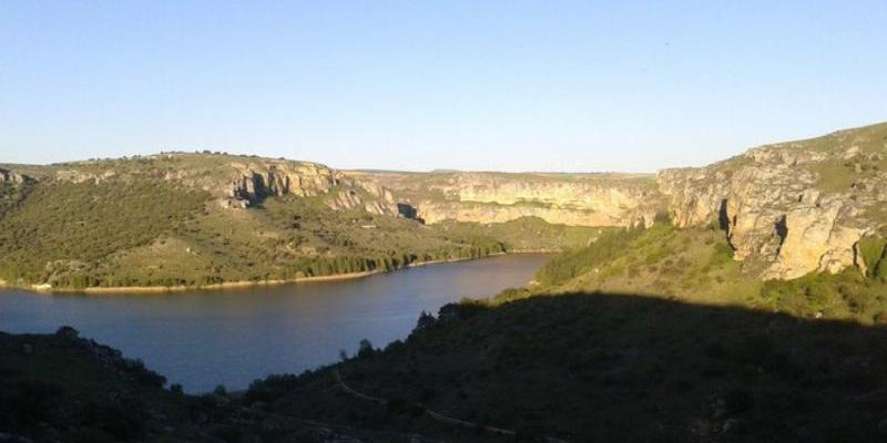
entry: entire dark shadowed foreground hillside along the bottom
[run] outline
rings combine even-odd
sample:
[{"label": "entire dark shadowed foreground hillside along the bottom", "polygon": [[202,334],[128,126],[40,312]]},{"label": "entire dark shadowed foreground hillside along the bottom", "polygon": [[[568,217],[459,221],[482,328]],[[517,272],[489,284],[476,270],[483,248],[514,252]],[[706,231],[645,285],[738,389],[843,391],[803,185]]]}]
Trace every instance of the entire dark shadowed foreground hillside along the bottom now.
[{"label": "entire dark shadowed foreground hillside along the bottom", "polygon": [[887,329],[639,296],[448,305],[405,342],[269,377],[239,396],[171,392],[139,363],[64,330],[0,334],[0,433],[35,441],[887,436]]}]

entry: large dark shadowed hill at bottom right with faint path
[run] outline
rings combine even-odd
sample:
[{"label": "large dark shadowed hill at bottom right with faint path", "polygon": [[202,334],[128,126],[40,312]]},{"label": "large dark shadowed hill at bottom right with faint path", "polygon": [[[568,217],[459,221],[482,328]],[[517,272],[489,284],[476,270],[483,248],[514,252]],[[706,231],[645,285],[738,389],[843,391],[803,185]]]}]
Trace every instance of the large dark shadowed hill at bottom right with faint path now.
[{"label": "large dark shadowed hill at bottom right with faint path", "polygon": [[[333,369],[385,405],[337,393]],[[883,441],[887,330],[612,295],[450,305],[405,343],[248,396],[465,441],[425,408],[533,440]],[[473,439],[500,441],[489,434]]]}]

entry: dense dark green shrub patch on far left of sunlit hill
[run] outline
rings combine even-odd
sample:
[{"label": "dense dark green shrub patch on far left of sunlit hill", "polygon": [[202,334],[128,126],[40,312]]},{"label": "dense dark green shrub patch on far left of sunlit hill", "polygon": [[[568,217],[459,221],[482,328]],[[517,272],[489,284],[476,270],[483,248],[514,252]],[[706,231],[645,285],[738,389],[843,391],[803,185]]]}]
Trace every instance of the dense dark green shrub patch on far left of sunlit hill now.
[{"label": "dense dark green shrub patch on far left of sunlit hill", "polygon": [[145,182],[37,184],[0,219],[0,278],[109,284],[103,259],[174,230],[205,196]]}]

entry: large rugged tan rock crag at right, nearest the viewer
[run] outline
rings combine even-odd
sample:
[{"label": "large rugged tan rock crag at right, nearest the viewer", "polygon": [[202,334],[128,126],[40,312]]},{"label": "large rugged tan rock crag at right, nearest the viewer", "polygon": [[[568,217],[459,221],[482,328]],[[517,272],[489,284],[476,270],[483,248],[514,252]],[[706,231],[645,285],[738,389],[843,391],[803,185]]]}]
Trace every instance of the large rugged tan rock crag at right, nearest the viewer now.
[{"label": "large rugged tan rock crag at right, nearest the viewer", "polygon": [[885,226],[887,124],[754,148],[657,174],[674,222],[716,224],[764,278],[864,266],[857,243]]}]

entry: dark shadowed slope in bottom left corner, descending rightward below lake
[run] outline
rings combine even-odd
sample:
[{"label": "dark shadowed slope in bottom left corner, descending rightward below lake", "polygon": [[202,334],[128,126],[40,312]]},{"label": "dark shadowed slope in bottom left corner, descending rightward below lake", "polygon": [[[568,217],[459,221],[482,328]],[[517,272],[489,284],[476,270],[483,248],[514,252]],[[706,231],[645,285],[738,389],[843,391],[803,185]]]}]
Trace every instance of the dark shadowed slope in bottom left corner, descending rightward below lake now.
[{"label": "dark shadowed slope in bottom left corner, descending rightward below lake", "polygon": [[71,328],[50,336],[0,332],[0,441],[411,442],[266,411],[223,387],[195,396],[164,382],[139,360]]}]

